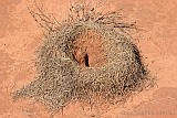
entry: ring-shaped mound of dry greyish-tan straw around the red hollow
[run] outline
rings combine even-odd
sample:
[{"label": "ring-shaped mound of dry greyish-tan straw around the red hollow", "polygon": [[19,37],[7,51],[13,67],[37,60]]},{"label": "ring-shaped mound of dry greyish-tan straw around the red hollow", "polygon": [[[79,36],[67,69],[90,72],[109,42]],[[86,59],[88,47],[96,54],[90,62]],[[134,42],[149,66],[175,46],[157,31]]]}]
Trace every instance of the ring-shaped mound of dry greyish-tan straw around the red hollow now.
[{"label": "ring-shaped mound of dry greyish-tan straw around the red hollow", "polygon": [[[50,28],[45,42],[38,51],[39,76],[30,85],[17,90],[14,99],[34,98],[52,110],[58,110],[72,101],[90,104],[102,99],[115,104],[145,87],[149,81],[147,71],[131,39],[106,26],[108,21],[104,18],[110,18],[110,14],[97,18],[90,14],[83,14],[82,19],[71,17],[72,22]],[[118,17],[113,13],[111,18]],[[116,24],[116,28],[128,28],[126,24],[123,26],[124,23],[118,26],[117,21],[113,21],[112,24]],[[76,47],[73,42],[91,31],[107,42],[103,52],[107,62],[101,67],[85,66],[83,71],[75,60]]]}]

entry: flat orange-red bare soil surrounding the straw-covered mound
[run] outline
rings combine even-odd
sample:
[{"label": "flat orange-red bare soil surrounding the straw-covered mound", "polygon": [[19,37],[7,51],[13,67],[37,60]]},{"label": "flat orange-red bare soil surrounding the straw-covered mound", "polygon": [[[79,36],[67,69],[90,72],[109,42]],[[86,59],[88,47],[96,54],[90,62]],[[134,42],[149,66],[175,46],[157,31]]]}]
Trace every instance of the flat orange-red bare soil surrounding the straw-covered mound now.
[{"label": "flat orange-red bare soil surrounding the straw-covered mound", "polygon": [[[72,0],[37,0],[61,20]],[[73,0],[73,3],[76,0]],[[81,0],[80,0],[81,1]],[[0,118],[49,118],[45,107],[30,100],[12,101],[11,93],[34,81],[34,51],[42,31],[29,14],[33,0],[0,0]],[[177,118],[177,0],[107,0],[102,8],[118,10],[146,30],[135,43],[157,86],[136,94],[124,105],[83,110],[79,105],[54,118]],[[102,60],[102,57],[101,57]]]}]

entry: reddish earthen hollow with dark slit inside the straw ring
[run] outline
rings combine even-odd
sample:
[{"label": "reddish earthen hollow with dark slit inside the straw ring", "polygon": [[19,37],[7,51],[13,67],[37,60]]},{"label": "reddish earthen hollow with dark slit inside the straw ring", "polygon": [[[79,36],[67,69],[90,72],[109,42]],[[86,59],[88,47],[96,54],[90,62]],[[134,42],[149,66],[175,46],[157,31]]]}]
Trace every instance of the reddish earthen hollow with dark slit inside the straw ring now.
[{"label": "reddish earthen hollow with dark slit inside the straw ring", "polygon": [[88,31],[74,41],[74,56],[82,67],[101,67],[105,57],[106,41],[93,31]]}]

